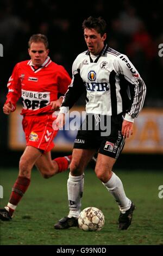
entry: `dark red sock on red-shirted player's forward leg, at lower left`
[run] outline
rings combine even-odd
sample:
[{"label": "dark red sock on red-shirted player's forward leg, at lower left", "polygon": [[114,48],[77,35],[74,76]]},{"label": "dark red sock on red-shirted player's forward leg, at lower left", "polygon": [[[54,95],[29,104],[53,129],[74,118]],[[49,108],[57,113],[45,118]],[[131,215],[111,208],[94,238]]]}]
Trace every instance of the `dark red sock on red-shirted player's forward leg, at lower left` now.
[{"label": "dark red sock on red-shirted player's forward leg, at lower left", "polygon": [[[23,176],[18,176],[17,180],[15,181],[14,186],[12,187],[12,192],[11,192],[11,196],[9,199],[9,203],[12,204],[13,206],[16,206],[18,204],[18,202],[20,202],[23,194],[26,192],[29,184],[30,184],[30,179],[23,177]],[[12,209],[9,207],[9,214],[11,216],[12,216],[14,210],[15,209]]]}]

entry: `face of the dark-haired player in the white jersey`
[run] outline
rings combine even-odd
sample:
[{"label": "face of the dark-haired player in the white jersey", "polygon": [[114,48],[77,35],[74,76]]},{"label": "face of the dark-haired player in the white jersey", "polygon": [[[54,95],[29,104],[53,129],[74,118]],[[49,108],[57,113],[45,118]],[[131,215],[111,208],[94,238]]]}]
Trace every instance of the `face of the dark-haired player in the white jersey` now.
[{"label": "face of the dark-haired player in the white jersey", "polygon": [[106,39],[106,34],[101,36],[95,29],[93,28],[85,28],[84,29],[84,38],[87,44],[89,51],[93,55],[98,55],[99,52],[102,51],[104,47],[104,41]]}]

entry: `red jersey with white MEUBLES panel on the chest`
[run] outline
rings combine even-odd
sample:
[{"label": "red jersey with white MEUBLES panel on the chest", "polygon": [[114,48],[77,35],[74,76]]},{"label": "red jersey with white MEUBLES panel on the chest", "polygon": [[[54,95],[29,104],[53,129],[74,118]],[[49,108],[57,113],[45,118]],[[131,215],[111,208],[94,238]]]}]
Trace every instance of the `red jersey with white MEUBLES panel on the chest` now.
[{"label": "red jersey with white MEUBLES panel on the chest", "polygon": [[65,94],[71,78],[65,68],[47,57],[41,67],[35,68],[32,60],[17,63],[9,78],[7,101],[16,108],[22,97],[22,115],[51,113],[51,101],[58,99],[58,93]]}]

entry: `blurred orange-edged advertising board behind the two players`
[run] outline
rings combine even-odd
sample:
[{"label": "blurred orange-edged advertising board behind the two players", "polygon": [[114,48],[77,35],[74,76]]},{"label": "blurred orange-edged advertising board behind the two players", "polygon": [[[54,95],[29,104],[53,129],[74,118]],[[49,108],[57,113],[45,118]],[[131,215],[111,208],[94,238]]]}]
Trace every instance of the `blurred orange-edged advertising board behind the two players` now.
[{"label": "blurred orange-edged advertising board behind the two players", "polygon": [[[73,107],[70,110],[74,113],[84,111],[83,107]],[[22,150],[26,146],[24,132],[22,129],[21,107],[18,106],[16,111],[9,116],[9,149]],[[71,118],[73,120],[73,118]],[[66,123],[70,120],[66,120]],[[76,128],[80,125],[80,118],[73,120]],[[139,117],[135,119],[134,134],[126,139],[126,145],[123,153],[163,153],[163,109],[161,108],[144,108]],[[54,139],[54,151],[71,151],[73,142],[77,135],[77,129],[64,129],[58,132]]]}]

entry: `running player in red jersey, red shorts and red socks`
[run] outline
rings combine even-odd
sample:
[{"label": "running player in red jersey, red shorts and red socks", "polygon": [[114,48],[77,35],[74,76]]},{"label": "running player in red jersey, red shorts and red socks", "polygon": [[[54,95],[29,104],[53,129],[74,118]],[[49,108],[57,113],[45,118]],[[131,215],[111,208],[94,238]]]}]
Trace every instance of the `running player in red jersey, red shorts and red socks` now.
[{"label": "running player in red jersey, red shorts and red socks", "polygon": [[26,149],[21,156],[19,173],[12,187],[9,203],[0,209],[0,219],[10,221],[18,202],[30,184],[33,166],[44,178],[50,178],[68,168],[71,156],[52,160],[53,139],[57,135],[52,123],[52,113],[61,106],[63,96],[71,78],[63,66],[48,56],[48,40],[45,35],[32,35],[28,42],[30,60],[17,63],[8,82],[9,92],[3,106],[4,114],[16,109],[16,102],[22,97],[23,130],[26,135]]}]

